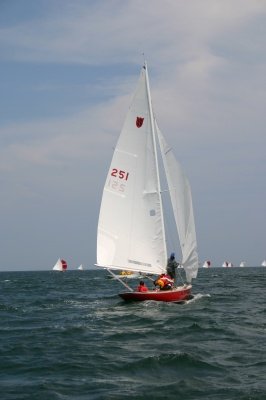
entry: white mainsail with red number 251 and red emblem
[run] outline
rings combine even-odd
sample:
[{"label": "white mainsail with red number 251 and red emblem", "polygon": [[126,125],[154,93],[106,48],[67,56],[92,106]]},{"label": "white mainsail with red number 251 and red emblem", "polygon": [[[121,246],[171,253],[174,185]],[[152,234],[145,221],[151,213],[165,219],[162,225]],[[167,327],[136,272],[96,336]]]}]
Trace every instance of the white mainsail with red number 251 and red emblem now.
[{"label": "white mainsail with red number 251 and red emblem", "polygon": [[160,274],[167,254],[146,68],[118,139],[104,186],[97,263]]}]

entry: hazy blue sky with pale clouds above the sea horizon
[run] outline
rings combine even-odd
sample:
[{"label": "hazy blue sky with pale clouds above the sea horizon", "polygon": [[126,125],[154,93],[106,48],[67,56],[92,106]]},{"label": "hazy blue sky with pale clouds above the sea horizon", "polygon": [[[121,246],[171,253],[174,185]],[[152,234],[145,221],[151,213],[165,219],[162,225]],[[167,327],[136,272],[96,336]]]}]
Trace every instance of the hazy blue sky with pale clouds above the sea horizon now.
[{"label": "hazy blue sky with pale clouds above the sea horizon", "polygon": [[200,261],[260,265],[265,37],[264,0],[0,0],[0,271],[94,265],[144,58],[190,180]]}]

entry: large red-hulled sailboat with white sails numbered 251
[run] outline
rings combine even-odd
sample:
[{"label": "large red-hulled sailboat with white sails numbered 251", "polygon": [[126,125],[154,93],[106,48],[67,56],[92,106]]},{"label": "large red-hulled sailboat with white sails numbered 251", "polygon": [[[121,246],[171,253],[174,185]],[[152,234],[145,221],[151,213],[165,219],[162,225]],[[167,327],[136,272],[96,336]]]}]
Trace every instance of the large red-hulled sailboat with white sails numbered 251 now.
[{"label": "large red-hulled sailboat with white sails numbered 251", "polygon": [[[168,249],[159,165],[165,170],[186,283],[175,285],[172,290],[137,292],[114,271],[149,276],[166,273]],[[197,277],[199,263],[190,185],[155,120],[146,62],[103,189],[96,265],[107,269],[125,286],[126,291],[119,293],[124,300],[184,301],[191,298],[191,281]]]}]

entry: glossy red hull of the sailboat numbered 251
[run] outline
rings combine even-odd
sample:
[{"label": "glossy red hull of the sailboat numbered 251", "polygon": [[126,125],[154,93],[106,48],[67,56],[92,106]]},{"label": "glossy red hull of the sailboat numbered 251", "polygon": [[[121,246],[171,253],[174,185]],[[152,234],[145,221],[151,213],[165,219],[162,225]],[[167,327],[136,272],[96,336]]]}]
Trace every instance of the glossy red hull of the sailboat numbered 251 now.
[{"label": "glossy red hull of the sailboat numbered 251", "polygon": [[166,301],[166,302],[178,302],[189,300],[191,298],[192,286],[182,286],[172,290],[149,290],[148,292],[125,292],[119,293],[119,296],[123,300],[134,300],[134,301]]}]

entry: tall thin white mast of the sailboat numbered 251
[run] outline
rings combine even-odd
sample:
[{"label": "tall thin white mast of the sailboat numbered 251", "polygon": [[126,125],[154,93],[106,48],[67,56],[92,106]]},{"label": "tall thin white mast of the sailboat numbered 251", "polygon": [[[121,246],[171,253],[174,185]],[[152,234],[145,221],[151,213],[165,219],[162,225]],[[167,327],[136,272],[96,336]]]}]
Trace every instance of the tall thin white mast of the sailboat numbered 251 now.
[{"label": "tall thin white mast of the sailboat numbered 251", "polygon": [[[147,88],[147,93],[148,93],[150,122],[151,122],[151,130],[152,130],[152,142],[153,142],[154,156],[155,156],[157,187],[158,187],[159,198],[160,198],[160,212],[161,212],[161,216],[162,216],[162,236],[163,236],[163,243],[164,243],[165,263],[166,263],[167,249],[166,249],[166,239],[165,239],[164,213],[163,213],[163,207],[162,207],[162,192],[161,192],[159,165],[158,165],[157,145],[156,145],[156,139],[155,139],[154,116],[153,116],[153,109],[152,109],[152,104],[151,104],[150,81],[149,81],[148,67],[147,67],[146,61],[144,61],[143,68],[145,70],[145,75],[146,75],[146,88]],[[166,264],[163,267],[166,267]]]}]

